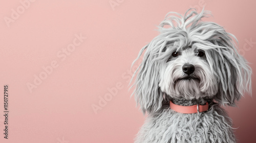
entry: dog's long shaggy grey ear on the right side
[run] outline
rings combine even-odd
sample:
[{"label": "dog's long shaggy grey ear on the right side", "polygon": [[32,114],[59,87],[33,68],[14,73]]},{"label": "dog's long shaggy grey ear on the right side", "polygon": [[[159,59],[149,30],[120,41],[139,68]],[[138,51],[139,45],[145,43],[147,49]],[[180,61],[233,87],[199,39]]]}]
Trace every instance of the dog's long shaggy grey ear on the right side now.
[{"label": "dog's long shaggy grey ear on the right side", "polygon": [[215,74],[219,82],[215,100],[222,105],[236,106],[236,101],[245,92],[251,93],[251,68],[238,53],[236,45],[227,36],[228,33],[223,33],[218,33],[219,38],[212,41],[220,48],[211,51],[210,54],[214,59]]}]

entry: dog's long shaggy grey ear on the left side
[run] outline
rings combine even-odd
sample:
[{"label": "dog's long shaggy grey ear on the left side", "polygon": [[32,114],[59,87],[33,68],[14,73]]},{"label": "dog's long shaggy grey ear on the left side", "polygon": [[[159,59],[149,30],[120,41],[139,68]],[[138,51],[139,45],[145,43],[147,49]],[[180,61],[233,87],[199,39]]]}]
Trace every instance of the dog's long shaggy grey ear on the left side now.
[{"label": "dog's long shaggy grey ear on the left side", "polygon": [[[144,46],[138,56],[139,58],[144,51],[143,60],[135,71],[135,74],[137,73],[134,83],[136,88],[133,92],[137,105],[140,105],[144,114],[145,112],[151,113],[159,110],[162,107],[163,101],[163,93],[158,86],[160,79],[159,65],[154,60],[157,54],[151,49],[148,50],[148,46],[150,46],[150,44]],[[138,58],[136,60],[138,60]]]}]

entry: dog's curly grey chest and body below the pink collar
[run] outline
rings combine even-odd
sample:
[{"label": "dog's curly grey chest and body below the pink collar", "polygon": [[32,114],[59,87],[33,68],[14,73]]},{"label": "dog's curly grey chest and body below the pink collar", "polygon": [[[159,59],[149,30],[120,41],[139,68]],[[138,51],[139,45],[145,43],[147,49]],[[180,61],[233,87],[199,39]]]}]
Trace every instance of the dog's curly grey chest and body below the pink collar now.
[{"label": "dog's curly grey chest and body below the pink collar", "polygon": [[141,142],[235,142],[229,123],[217,112],[182,114],[171,110],[149,116]]}]

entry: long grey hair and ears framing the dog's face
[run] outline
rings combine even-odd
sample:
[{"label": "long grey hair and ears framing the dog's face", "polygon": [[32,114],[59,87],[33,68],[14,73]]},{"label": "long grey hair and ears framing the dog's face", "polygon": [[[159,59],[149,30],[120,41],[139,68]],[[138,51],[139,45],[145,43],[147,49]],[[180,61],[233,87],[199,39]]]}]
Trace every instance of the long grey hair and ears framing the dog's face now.
[{"label": "long grey hair and ears framing the dog's face", "polygon": [[137,75],[131,88],[136,86],[132,96],[135,94],[137,105],[144,114],[158,111],[165,103],[159,87],[159,71],[170,54],[165,52],[169,44],[177,51],[189,45],[205,51],[219,83],[215,96],[219,104],[235,106],[245,92],[251,93],[251,68],[232,40],[237,41],[236,37],[215,22],[201,20],[208,15],[210,12],[204,9],[200,13],[189,9],[184,16],[169,12],[158,27],[160,34],[140,50],[132,67],[144,53],[143,60],[132,77],[133,80]]}]

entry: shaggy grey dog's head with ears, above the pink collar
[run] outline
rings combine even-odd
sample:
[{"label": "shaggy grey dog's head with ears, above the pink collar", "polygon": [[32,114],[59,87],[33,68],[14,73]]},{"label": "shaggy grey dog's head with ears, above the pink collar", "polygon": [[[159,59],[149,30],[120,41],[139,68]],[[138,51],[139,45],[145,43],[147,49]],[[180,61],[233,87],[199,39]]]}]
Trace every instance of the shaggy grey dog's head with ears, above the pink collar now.
[{"label": "shaggy grey dog's head with ears, above the pink collar", "polygon": [[[170,12],[160,34],[142,48],[135,99],[145,113],[159,110],[164,96],[175,99],[214,99],[234,106],[251,92],[251,68],[223,27],[201,21],[209,14],[189,9],[184,17]],[[137,59],[138,59],[137,58]]]}]

